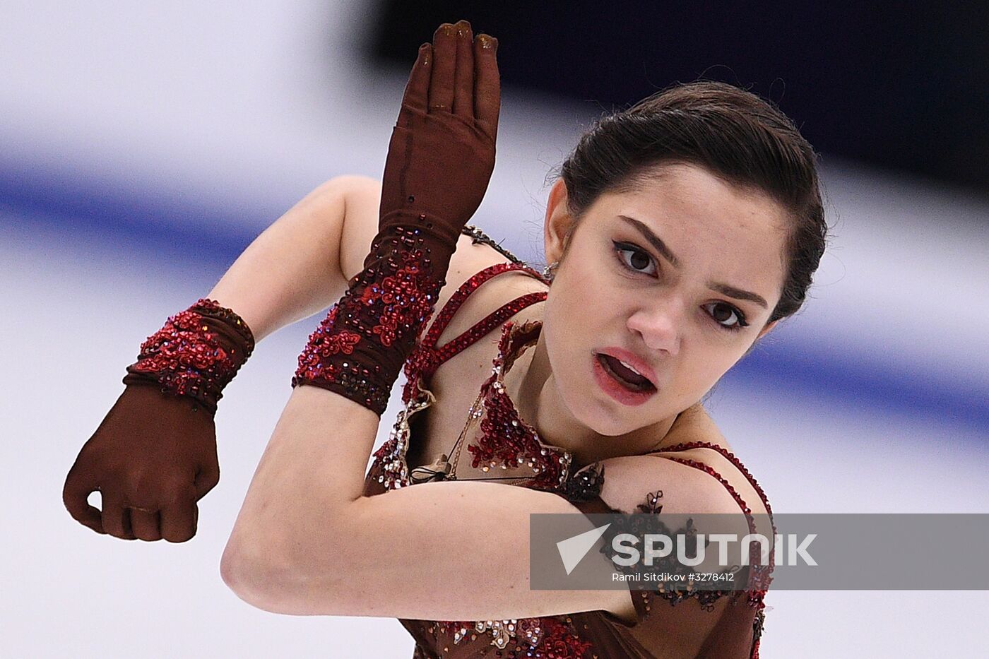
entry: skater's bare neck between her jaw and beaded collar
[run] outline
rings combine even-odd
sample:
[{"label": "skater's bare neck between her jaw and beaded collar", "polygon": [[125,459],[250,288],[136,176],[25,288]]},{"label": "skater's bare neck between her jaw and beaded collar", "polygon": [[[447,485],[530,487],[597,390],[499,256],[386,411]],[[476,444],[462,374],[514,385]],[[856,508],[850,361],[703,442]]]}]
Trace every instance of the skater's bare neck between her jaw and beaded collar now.
[{"label": "skater's bare neck between her jaw and beaded collar", "polygon": [[[545,332],[539,333],[536,345],[515,362],[505,379],[522,419],[536,428],[544,443],[571,453],[576,469],[598,460],[640,455],[660,447],[675,417],[617,436],[600,434],[578,421],[560,398],[545,336]],[[510,376],[515,376],[514,383],[509,382]]]}]

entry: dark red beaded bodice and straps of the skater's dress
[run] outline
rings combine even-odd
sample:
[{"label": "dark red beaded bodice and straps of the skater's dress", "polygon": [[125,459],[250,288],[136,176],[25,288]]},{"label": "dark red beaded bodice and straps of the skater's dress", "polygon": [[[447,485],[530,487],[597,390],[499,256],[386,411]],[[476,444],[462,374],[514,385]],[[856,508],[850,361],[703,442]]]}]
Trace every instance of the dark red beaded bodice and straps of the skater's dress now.
[{"label": "dark red beaded bodice and straps of the skater's dress", "polygon": [[[477,230],[474,230],[477,231]],[[489,238],[490,240],[490,238]],[[513,258],[513,257],[512,257]],[[505,391],[503,378],[512,364],[538,339],[541,324],[507,322],[525,307],[545,300],[546,293],[528,294],[502,305],[483,321],[443,346],[436,340],[464,300],[489,279],[508,271],[523,271],[542,280],[542,277],[523,263],[515,261],[491,266],[471,277],[451,297],[440,311],[435,323],[423,337],[420,346],[405,364],[407,383],[403,391],[405,409],[393,425],[388,441],[375,452],[375,460],[365,483],[365,494],[375,495],[388,490],[408,487],[417,483],[437,480],[486,480],[540,489],[558,494],[574,503],[584,513],[613,512],[605,506],[598,494],[603,481],[603,470],[598,465],[572,473],[571,455],[563,449],[542,442],[536,430],[523,420]],[[471,406],[468,419],[457,442],[448,455],[436,463],[409,469],[405,454],[410,441],[410,420],[435,403],[435,396],[428,388],[428,379],[440,364],[490,331],[500,327],[497,356],[492,364],[491,376]],[[733,464],[755,485],[764,500],[764,494],[751,475],[735,458],[719,446],[704,442],[681,444],[667,449],[670,453],[689,448],[711,448],[728,457]],[[666,457],[666,456],[664,456]],[[728,482],[709,466],[677,457],[681,464],[706,471],[719,479],[732,493],[752,525],[749,507]],[[658,513],[662,492],[644,494],[644,504],[637,513]],[[768,505],[766,504],[768,510]],[[769,568],[771,570],[771,567]],[[750,582],[753,583],[753,582]],[[768,571],[757,575],[753,590],[735,593],[706,591],[699,597],[682,594],[666,597],[674,610],[683,618],[665,614],[654,618],[649,628],[644,623],[651,615],[654,601],[663,594],[655,591],[634,591],[633,605],[637,622],[630,624],[608,612],[582,612],[570,615],[554,615],[538,618],[481,620],[481,621],[426,621],[402,620],[405,628],[415,638],[413,657],[459,659],[492,656],[506,659],[515,657],[577,657],[654,656],[649,650],[653,642],[667,642],[675,625],[689,625],[689,615],[702,615],[713,610],[713,603],[721,597],[732,602],[722,615],[727,634],[724,642],[712,646],[711,654],[698,656],[758,657],[759,636],[762,632],[763,595],[768,587]],[[748,593],[748,598],[743,598]],[[684,599],[694,600],[690,606],[679,604]],[[703,600],[703,601],[702,601]],[[742,605],[740,602],[745,601]],[[745,606],[747,603],[749,606]],[[692,607],[692,608],[691,608]],[[708,613],[710,614],[710,613]],[[732,622],[731,620],[734,620]],[[719,622],[720,626],[725,626]],[[649,639],[656,638],[656,641]],[[707,647],[708,644],[705,644]],[[726,648],[733,648],[731,651]]]}]

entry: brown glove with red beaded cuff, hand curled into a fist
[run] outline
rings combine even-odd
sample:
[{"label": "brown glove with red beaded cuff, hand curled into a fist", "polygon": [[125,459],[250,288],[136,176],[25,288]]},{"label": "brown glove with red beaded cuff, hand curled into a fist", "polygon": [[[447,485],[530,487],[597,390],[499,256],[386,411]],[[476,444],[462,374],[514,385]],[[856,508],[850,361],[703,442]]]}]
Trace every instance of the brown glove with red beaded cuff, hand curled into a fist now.
[{"label": "brown glove with red beaded cuff, hand curled into a fist", "polygon": [[[62,501],[99,533],[183,542],[196,533],[196,502],[220,480],[214,413],[250,356],[247,325],[200,300],[141,344],[127,388],[68,472]],[[86,499],[99,491],[102,511]]]}]

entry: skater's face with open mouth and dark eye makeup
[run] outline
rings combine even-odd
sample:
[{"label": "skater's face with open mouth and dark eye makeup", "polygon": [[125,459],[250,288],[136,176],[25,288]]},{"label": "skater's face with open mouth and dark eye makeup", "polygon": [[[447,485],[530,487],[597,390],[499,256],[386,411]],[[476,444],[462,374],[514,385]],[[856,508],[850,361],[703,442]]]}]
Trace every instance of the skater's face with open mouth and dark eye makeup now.
[{"label": "skater's face with open mouth and dark eye makeup", "polygon": [[764,193],[667,164],[580,218],[566,202],[561,180],[543,332],[559,400],[585,426],[620,435],[674,417],[771,329],[788,224]]}]

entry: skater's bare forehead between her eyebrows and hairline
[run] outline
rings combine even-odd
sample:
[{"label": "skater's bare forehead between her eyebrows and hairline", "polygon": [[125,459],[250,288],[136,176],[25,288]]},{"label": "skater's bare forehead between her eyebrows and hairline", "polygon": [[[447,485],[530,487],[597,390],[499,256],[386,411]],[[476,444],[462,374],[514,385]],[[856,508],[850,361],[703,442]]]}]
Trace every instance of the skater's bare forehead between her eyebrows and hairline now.
[{"label": "skater's bare forehead between her eyebrows and hairline", "polygon": [[606,225],[625,225],[619,216],[642,222],[685,268],[718,266],[719,274],[781,284],[789,228],[780,204],[694,165],[668,164],[654,174],[602,194],[589,211]]}]

